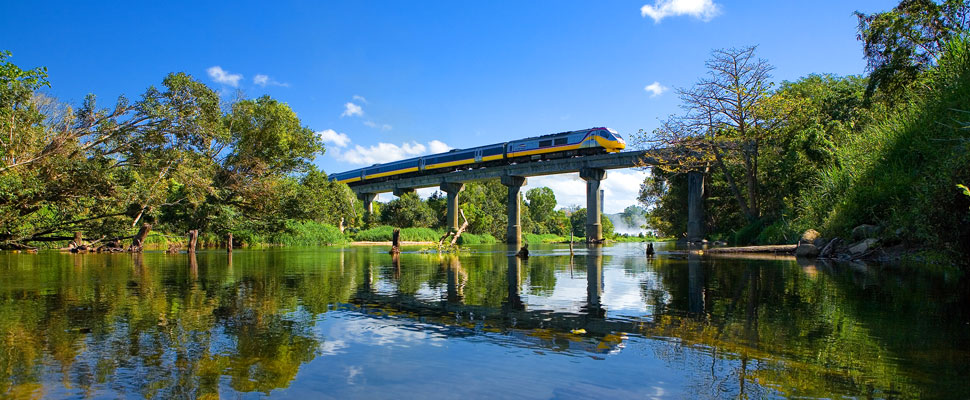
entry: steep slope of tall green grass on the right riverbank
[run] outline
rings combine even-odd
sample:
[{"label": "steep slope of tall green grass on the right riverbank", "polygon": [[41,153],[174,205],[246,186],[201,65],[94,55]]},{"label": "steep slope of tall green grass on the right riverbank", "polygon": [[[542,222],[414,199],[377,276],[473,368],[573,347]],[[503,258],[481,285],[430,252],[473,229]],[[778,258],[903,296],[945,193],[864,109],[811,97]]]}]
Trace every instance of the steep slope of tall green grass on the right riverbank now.
[{"label": "steep slope of tall green grass on the right riverbank", "polygon": [[876,224],[895,239],[968,252],[970,41],[951,43],[925,91],[848,140],[801,202],[801,218],[826,235]]}]

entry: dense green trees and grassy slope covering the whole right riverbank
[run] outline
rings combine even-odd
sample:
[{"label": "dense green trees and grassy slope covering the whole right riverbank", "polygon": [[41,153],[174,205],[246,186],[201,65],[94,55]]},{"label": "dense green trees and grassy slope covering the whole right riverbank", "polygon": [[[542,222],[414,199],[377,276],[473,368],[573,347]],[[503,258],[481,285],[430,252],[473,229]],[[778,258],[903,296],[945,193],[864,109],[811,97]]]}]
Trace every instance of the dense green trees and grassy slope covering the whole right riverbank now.
[{"label": "dense green trees and grassy slope covering the whole right riverbank", "polygon": [[774,87],[756,47],[715,51],[708,76],[679,90],[684,114],[637,138],[688,150],[641,187],[647,224],[683,235],[684,172],[700,169],[712,239],[794,243],[808,228],[846,238],[872,224],[883,245],[970,254],[957,186],[970,181],[968,15],[960,0],[858,14],[865,76]]}]

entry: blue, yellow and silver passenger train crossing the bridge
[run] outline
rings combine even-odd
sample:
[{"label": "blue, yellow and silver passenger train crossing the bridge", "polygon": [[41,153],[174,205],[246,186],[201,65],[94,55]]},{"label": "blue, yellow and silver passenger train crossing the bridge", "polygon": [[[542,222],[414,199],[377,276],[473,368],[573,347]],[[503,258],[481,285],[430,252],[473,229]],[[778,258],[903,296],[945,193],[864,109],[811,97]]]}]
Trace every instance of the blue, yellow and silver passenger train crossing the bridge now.
[{"label": "blue, yellow and silver passenger train crossing the bridge", "polygon": [[623,150],[626,142],[610,128],[590,128],[553,133],[471,149],[455,149],[386,164],[330,175],[342,183],[383,181],[401,176],[421,175],[425,171],[447,172],[501,164],[514,164],[553,158],[576,157]]}]

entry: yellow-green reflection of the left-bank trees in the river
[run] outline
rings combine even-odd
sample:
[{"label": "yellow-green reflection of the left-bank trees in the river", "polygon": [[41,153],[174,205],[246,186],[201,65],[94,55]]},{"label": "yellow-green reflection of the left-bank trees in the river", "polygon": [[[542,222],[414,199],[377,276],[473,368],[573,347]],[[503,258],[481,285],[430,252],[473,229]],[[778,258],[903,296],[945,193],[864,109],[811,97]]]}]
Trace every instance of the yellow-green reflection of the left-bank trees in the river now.
[{"label": "yellow-green reflection of the left-bank trees in the river", "polygon": [[357,279],[353,260],[287,274],[276,255],[237,252],[229,273],[224,254],[198,257],[45,254],[0,274],[0,393],[43,395],[45,364],[63,385],[47,390],[81,395],[204,397],[220,376],[283,388],[320,345],[315,315]]}]

